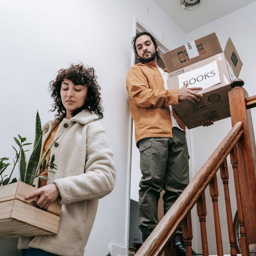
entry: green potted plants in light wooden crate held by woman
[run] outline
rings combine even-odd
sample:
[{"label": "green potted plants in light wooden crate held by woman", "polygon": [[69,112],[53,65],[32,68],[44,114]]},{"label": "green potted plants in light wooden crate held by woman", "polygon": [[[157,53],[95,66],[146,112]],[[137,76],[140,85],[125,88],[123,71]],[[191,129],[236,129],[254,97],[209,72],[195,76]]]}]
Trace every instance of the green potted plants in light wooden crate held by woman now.
[{"label": "green potted plants in light wooden crate held by woman", "polygon": [[[0,158],[0,235],[2,236],[44,236],[56,234],[58,231],[59,215],[61,213],[61,205],[58,201],[52,203],[45,211],[30,204],[33,201],[37,201],[37,197],[29,200],[25,199],[26,195],[32,194],[37,190],[33,184],[35,178],[47,179],[47,177],[41,176],[41,172],[55,173],[54,155],[52,155],[48,163],[46,157],[58,138],[49,145],[45,154],[41,156],[42,137],[41,120],[37,113],[35,142],[29,160],[26,160],[24,146],[32,143],[25,143],[26,138],[20,135],[18,135],[19,139],[14,137],[18,149],[12,146],[16,153],[16,160],[14,160],[14,166],[9,177],[4,175],[7,167],[10,166],[10,163],[6,163],[9,158]],[[11,180],[17,163],[19,163],[20,181],[17,181],[16,178]]]}]

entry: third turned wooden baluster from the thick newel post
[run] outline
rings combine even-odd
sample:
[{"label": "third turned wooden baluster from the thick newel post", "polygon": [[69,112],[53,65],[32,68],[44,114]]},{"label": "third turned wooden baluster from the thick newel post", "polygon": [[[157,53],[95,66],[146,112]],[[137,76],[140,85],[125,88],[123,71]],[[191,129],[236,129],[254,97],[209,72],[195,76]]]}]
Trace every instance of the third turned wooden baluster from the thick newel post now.
[{"label": "third turned wooden baluster from the thick newel post", "polygon": [[218,184],[217,184],[216,174],[214,175],[211,182],[209,183],[209,190],[210,190],[210,196],[212,198],[217,254],[218,254],[218,256],[223,256],[223,246],[222,246],[222,239],[221,239],[221,224],[220,224],[220,216],[219,216],[219,212],[218,212]]}]

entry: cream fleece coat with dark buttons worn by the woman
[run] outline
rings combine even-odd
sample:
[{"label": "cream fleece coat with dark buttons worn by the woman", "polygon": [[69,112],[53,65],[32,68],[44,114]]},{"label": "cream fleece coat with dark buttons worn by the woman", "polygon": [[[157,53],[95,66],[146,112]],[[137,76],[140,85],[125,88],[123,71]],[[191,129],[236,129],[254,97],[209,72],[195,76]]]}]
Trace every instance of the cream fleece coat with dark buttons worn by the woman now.
[{"label": "cream fleece coat with dark buttons worn by the woman", "polygon": [[[54,119],[44,125],[43,145],[59,122]],[[33,247],[61,256],[83,256],[99,198],[108,195],[115,184],[113,153],[98,116],[90,111],[64,118],[55,138],[62,132],[51,152],[58,170],[55,174],[48,172],[48,184],[58,186],[62,204],[58,234],[21,238],[18,248]],[[38,186],[38,180],[35,183]]]}]

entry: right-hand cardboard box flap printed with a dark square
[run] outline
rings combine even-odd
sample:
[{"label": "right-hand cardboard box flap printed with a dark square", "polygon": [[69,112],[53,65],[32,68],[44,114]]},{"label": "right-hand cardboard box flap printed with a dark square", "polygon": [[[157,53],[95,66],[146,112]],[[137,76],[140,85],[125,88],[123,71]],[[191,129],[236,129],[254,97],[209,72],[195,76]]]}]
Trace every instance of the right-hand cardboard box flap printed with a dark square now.
[{"label": "right-hand cardboard box flap printed with a dark square", "polygon": [[233,69],[233,73],[235,74],[236,78],[238,78],[243,63],[236,51],[236,48],[234,47],[231,38],[228,38],[227,40],[227,44],[224,49],[224,54],[231,68]]}]

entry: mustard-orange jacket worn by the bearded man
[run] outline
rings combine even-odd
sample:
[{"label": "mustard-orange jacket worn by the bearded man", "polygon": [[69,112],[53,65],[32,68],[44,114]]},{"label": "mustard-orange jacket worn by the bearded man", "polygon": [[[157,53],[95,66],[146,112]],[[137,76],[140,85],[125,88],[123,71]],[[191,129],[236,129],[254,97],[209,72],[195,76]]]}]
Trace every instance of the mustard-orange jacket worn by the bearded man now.
[{"label": "mustard-orange jacket worn by the bearded man", "polygon": [[[163,78],[153,61],[138,63],[130,68],[126,88],[130,96],[130,111],[135,123],[135,140],[148,137],[172,138],[169,105],[178,105],[178,90],[166,90]],[[173,111],[185,131],[182,120]],[[137,144],[138,146],[138,144]]]}]

